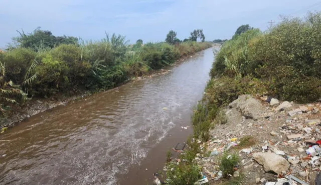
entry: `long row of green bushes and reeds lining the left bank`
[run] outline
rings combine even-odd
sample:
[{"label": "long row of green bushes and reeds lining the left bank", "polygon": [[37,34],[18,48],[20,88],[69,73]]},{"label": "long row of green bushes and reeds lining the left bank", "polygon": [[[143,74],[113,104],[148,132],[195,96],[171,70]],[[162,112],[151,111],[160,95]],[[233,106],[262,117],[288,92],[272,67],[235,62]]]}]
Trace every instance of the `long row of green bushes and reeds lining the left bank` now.
[{"label": "long row of green bushes and reeds lining the left bank", "polygon": [[124,36],[116,34],[106,34],[99,41],[79,41],[40,28],[19,34],[13,38],[16,44],[0,52],[2,112],[27,97],[49,98],[112,88],[211,46],[193,41],[143,44],[141,39],[131,46]]}]

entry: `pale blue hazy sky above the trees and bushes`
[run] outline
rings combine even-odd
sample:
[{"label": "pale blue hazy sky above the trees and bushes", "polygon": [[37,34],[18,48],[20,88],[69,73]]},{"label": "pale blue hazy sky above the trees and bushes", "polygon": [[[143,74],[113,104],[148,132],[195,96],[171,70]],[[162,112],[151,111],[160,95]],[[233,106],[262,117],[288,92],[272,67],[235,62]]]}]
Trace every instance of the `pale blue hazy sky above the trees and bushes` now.
[{"label": "pale blue hazy sky above the trees and bushes", "polygon": [[0,48],[17,30],[41,27],[56,36],[99,40],[108,33],[130,43],[164,41],[169,30],[180,39],[203,29],[206,40],[229,39],[238,26],[261,30],[280,15],[303,17],[321,9],[321,0],[0,0]]}]

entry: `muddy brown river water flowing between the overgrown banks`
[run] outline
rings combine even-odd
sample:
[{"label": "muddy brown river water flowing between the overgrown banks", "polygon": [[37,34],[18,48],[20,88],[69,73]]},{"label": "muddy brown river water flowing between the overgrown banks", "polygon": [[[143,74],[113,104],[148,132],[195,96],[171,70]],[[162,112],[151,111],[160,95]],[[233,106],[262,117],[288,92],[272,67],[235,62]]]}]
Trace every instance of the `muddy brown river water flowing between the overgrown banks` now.
[{"label": "muddy brown river water flowing between the overgrown banks", "polygon": [[[0,135],[0,184],[150,184],[191,134],[212,48],[171,71],[69,102]],[[166,107],[166,108],[164,108]]]}]

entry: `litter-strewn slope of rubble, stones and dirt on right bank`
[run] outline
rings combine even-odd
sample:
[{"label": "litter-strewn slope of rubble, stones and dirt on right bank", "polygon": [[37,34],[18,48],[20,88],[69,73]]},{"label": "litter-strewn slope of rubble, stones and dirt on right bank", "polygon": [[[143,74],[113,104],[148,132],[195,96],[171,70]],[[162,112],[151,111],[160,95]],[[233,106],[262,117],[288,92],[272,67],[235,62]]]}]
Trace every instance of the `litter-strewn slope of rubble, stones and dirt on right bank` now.
[{"label": "litter-strewn slope of rubble, stones and dirt on right bank", "polygon": [[[240,95],[224,109],[227,123],[216,125],[211,139],[202,144],[210,155],[196,159],[210,184],[221,178],[219,156],[227,150],[240,156],[238,172],[231,176],[243,174],[246,184],[262,184],[262,179],[264,183],[280,180],[281,184],[285,179],[289,184],[314,184],[321,171],[321,104],[271,102],[276,100],[268,103]],[[255,144],[237,148],[246,135]]]}]

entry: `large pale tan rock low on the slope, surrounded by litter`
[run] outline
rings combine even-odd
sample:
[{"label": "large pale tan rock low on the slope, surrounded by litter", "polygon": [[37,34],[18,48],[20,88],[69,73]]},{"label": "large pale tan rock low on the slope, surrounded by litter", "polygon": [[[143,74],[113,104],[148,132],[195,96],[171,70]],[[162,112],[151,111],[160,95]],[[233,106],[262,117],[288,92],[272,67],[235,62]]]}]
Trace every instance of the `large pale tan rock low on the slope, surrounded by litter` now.
[{"label": "large pale tan rock low on the slope, surrounded by litter", "polygon": [[285,158],[275,153],[257,152],[253,153],[253,157],[259,164],[263,165],[263,169],[266,172],[273,171],[278,174],[284,170],[287,171],[290,167],[289,162]]}]

